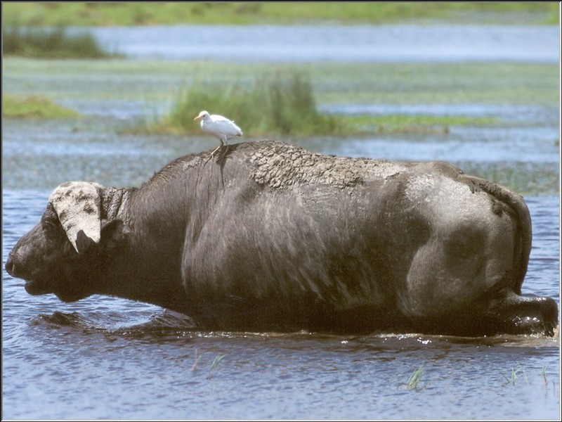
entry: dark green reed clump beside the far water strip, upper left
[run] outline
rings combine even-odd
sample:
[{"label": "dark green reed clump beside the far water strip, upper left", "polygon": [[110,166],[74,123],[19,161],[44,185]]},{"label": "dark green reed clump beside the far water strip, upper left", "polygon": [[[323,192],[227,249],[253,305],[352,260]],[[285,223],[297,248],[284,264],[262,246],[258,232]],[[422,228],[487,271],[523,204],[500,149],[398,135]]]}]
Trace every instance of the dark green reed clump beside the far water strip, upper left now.
[{"label": "dark green reed clump beside the far water strip, upper left", "polygon": [[68,34],[63,27],[51,29],[21,27],[2,29],[4,55],[32,58],[107,58],[117,56],[104,51],[87,32]]}]

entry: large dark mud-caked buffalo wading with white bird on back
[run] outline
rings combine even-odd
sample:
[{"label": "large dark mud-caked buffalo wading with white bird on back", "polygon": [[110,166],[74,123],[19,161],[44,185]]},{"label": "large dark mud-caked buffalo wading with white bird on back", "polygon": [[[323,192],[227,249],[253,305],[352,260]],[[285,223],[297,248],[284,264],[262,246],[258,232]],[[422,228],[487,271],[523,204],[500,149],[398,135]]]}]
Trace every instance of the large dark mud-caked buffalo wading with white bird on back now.
[{"label": "large dark mud-caked buffalo wading with white bird on back", "polygon": [[140,188],[61,184],[6,271],[31,295],[139,300],[206,329],[553,335],[556,302],[521,296],[530,247],[523,198],[445,162],[266,140]]}]

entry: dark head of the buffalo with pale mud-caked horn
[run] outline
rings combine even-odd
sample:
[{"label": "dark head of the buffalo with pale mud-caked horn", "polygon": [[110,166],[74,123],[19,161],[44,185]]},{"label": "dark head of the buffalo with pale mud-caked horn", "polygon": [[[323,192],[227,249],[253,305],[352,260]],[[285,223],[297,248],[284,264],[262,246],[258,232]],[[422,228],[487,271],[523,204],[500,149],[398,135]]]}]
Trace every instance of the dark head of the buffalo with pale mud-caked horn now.
[{"label": "dark head of the buffalo with pale mud-caked horn", "polygon": [[20,238],[6,271],[27,281],[31,295],[54,293],[73,302],[96,292],[108,254],[124,241],[119,219],[102,219],[103,187],[67,182],[55,188],[41,222]]}]

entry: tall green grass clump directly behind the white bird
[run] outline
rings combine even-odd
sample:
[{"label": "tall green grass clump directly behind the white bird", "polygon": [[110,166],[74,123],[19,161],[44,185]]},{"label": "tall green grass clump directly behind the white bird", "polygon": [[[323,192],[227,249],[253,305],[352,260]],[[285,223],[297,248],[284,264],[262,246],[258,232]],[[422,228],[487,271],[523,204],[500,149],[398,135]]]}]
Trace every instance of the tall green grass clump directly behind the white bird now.
[{"label": "tall green grass clump directly behind the white bird", "polygon": [[227,86],[194,81],[181,92],[171,113],[145,124],[149,133],[200,133],[193,118],[201,110],[235,120],[245,135],[310,135],[341,132],[339,120],[318,113],[308,77],[265,75]]}]

